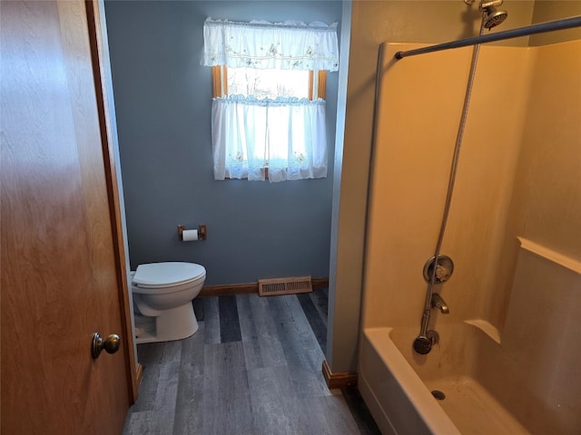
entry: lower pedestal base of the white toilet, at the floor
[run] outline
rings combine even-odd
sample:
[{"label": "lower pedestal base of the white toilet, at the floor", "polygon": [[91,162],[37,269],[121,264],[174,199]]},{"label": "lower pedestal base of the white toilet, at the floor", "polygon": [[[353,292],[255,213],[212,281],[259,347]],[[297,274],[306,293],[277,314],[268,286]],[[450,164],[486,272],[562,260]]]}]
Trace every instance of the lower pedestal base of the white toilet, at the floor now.
[{"label": "lower pedestal base of the white toilet, at the floor", "polygon": [[149,317],[135,313],[135,343],[172,342],[188,338],[198,331],[192,302]]}]

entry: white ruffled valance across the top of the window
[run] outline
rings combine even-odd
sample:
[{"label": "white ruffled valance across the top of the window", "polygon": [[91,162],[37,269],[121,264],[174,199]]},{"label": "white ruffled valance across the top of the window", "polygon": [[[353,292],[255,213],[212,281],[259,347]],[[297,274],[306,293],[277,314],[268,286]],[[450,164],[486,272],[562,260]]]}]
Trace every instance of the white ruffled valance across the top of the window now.
[{"label": "white ruffled valance across the top of the window", "polygon": [[207,18],[202,65],[282,70],[339,70],[337,23],[239,23]]}]

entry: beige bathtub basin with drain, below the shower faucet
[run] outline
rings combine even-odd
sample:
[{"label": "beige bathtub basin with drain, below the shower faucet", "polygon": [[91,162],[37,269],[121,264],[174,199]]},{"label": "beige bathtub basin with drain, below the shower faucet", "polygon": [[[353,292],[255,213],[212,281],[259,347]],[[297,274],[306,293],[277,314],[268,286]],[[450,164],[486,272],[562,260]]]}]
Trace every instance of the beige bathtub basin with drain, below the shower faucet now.
[{"label": "beige bathtub basin with drain, below the shower faucet", "polygon": [[[419,355],[416,329],[368,328],[361,337],[359,390],[384,435],[581,433],[578,397],[537,397],[534,378],[542,374],[519,364],[494,334],[443,324],[440,343]],[[446,398],[436,400],[435,390]]]}]

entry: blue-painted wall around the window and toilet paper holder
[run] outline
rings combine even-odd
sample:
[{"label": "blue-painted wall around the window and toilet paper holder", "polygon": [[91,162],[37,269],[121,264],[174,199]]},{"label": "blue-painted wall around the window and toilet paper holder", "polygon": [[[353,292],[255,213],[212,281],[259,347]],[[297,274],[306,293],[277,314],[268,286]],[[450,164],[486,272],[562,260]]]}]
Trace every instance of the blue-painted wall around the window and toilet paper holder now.
[{"label": "blue-painted wall around the window and toilet paper holder", "polygon": [[[329,176],[269,183],[215,181],[209,67],[200,65],[206,17],[340,23],[340,1],[107,1],[123,193],[134,269],[192,261],[207,285],[329,276],[338,73],[328,74]],[[178,224],[208,226],[180,242]]]}]

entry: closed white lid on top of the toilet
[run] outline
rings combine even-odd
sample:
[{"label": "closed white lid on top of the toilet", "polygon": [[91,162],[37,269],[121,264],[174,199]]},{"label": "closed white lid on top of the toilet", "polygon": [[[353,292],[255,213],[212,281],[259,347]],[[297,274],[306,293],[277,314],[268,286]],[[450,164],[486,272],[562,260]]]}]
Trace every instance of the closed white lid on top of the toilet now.
[{"label": "closed white lid on top of the toilet", "polygon": [[136,285],[172,285],[192,281],[205,275],[206,269],[195,263],[166,262],[137,266],[133,275]]}]

